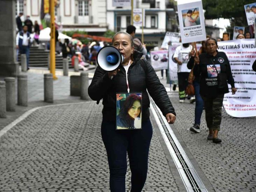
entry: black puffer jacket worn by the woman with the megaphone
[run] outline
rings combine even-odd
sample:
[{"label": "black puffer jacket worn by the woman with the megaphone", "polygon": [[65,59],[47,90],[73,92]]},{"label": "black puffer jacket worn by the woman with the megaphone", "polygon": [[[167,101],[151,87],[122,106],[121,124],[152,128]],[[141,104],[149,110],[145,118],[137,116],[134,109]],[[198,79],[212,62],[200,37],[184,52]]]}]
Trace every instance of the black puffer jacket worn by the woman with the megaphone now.
[{"label": "black puffer jacket worn by the woman with the megaphone", "polygon": [[[140,59],[141,56],[141,52],[134,51],[134,62],[128,70],[128,82],[131,93],[142,92],[142,121],[149,119],[150,115],[147,89],[164,116],[167,113],[176,115],[165,87],[160,83],[155,70],[146,60]],[[127,92],[125,68],[120,67],[118,74],[111,80],[108,78],[107,71],[98,66],[92,83],[88,87],[88,93],[92,100],[99,101],[103,98],[104,120],[115,121],[117,92]]]}]

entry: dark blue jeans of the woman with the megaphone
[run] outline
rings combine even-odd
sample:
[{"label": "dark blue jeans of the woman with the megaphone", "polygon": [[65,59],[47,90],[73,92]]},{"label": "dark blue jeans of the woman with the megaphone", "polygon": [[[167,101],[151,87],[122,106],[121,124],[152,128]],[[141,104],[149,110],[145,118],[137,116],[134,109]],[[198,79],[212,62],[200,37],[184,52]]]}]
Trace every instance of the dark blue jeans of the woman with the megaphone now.
[{"label": "dark blue jeans of the woman with the megaphone", "polygon": [[131,192],[141,192],[148,172],[149,145],[152,138],[150,120],[142,122],[140,130],[115,130],[115,122],[103,120],[101,136],[110,171],[111,192],[125,192],[128,152],[131,170]]}]

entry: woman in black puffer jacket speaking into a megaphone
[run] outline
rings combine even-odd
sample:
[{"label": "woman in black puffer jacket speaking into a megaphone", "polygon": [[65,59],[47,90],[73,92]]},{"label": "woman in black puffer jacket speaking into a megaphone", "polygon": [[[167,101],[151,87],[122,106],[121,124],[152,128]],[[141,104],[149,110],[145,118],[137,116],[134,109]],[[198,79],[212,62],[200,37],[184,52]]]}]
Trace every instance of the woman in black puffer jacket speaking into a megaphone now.
[{"label": "woman in black puffer jacket speaking into a megaphone", "polygon": [[[101,136],[107,151],[111,192],[126,191],[127,152],[131,170],[131,192],[138,192],[143,189],[147,178],[148,154],[152,137],[147,90],[168,123],[175,122],[176,113],[155,70],[146,60],[140,59],[141,52],[134,50],[133,38],[126,32],[118,32],[114,35],[112,44],[114,48],[105,47],[98,53],[98,67],[88,93],[97,103],[103,99]],[[116,64],[118,66],[112,66],[104,57],[109,56],[111,49],[118,50],[115,52],[117,56],[120,54],[117,60],[121,62]],[[141,95],[142,126],[140,129],[119,130],[116,128],[116,115],[119,112],[117,107],[120,105],[119,100],[125,98],[117,96],[120,95],[118,93],[128,95],[131,92]],[[132,107],[136,108],[136,106]]]}]

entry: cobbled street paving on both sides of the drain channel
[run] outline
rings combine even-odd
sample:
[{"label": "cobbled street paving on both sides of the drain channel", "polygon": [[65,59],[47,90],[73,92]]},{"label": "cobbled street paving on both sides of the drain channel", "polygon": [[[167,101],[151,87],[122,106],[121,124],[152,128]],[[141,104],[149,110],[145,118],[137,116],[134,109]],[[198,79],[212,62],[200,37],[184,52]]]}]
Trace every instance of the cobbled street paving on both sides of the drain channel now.
[{"label": "cobbled street paving on both sides of the drain channel", "polygon": [[[58,78],[54,81],[54,105],[47,104],[43,102],[43,75],[31,70],[29,106],[17,106],[16,112],[7,113],[7,119],[0,119],[1,130],[29,109],[44,106],[0,137],[1,192],[109,191],[106,151],[100,136],[102,105],[71,97],[69,77]],[[201,133],[191,133],[194,104],[180,104],[178,92],[170,91],[166,80],[161,81],[177,112],[173,131],[208,191],[256,191],[256,118],[234,119],[223,111],[219,134],[223,143],[214,144],[206,140],[204,113]],[[151,121],[154,130],[144,191],[183,192],[185,187],[154,118]],[[128,168],[127,190],[129,180]]]}]

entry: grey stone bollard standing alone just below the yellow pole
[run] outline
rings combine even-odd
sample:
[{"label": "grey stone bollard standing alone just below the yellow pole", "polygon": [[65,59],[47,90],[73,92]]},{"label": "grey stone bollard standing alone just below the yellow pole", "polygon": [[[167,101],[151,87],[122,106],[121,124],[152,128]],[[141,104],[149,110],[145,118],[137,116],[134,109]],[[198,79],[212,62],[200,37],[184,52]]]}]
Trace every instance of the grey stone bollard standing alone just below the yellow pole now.
[{"label": "grey stone bollard standing alone just below the yellow pole", "polygon": [[51,73],[44,74],[44,102],[53,103],[53,78]]}]

